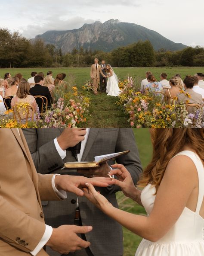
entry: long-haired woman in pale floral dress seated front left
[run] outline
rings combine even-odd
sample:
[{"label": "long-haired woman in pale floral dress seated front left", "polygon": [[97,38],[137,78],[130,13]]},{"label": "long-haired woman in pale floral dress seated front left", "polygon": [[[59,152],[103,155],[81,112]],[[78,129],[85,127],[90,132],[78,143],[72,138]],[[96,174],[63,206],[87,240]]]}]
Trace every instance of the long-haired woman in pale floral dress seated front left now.
[{"label": "long-haired woman in pale floral dress seated front left", "polygon": [[[29,83],[27,81],[21,80],[21,82],[19,83],[19,88],[17,90],[16,96],[13,97],[12,100],[11,100],[11,108],[12,109],[18,103],[24,102],[24,103],[28,103],[29,105],[31,105],[33,107],[34,113],[37,112],[36,100],[35,100],[34,96],[32,96],[29,93],[29,90],[30,90]],[[29,114],[28,114],[28,121],[31,121],[32,114],[33,114],[33,112],[32,112],[32,110],[30,110]],[[26,115],[27,115],[27,113],[24,110],[20,111],[20,116],[21,116],[21,122],[22,123],[25,123]],[[35,120],[35,115],[34,115],[34,120]]]}]

